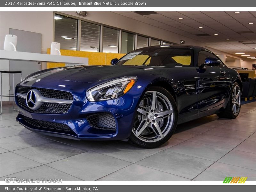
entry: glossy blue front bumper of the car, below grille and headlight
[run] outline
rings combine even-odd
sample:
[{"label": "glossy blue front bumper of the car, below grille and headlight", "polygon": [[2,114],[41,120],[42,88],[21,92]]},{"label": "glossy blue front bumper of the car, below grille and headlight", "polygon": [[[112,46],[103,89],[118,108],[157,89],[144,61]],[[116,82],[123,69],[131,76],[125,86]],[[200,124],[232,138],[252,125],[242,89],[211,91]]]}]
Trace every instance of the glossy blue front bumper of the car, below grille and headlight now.
[{"label": "glossy blue front bumper of the car, below grille and headlight", "polygon": [[[16,119],[33,132],[51,136],[76,140],[124,140],[131,134],[133,119],[144,90],[144,87],[134,85],[120,98],[98,102],[89,102],[85,92],[73,92],[74,101],[68,112],[62,114],[33,113],[17,103],[20,113]],[[114,121],[112,123],[115,123],[116,129],[95,128],[88,121],[88,116],[93,114],[112,116]],[[64,126],[63,129],[62,126]],[[70,130],[66,129],[67,127]]]}]

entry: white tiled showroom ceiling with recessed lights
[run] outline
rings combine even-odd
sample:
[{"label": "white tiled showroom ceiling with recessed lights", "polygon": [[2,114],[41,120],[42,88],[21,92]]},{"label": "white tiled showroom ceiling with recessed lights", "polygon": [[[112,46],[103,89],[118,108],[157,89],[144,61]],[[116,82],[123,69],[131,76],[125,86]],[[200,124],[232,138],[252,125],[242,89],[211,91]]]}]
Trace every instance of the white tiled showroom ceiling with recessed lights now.
[{"label": "white tiled showroom ceiling with recessed lights", "polygon": [[[135,12],[115,13],[204,42],[205,46],[221,52],[232,55],[235,55],[235,52],[244,52],[256,57],[256,49],[254,49],[256,48],[256,12],[157,12],[157,14],[145,16]],[[251,31],[251,33],[237,33],[241,31]],[[196,36],[198,34],[210,36]],[[175,40],[173,42],[178,43]],[[241,58],[251,60],[245,56]]]}]

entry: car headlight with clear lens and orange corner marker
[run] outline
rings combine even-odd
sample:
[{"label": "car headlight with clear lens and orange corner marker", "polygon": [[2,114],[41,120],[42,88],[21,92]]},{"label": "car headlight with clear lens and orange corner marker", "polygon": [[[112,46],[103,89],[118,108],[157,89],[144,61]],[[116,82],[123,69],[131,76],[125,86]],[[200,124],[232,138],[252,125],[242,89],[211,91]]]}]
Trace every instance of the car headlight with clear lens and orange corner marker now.
[{"label": "car headlight with clear lens and orange corner marker", "polygon": [[135,84],[137,77],[123,77],[97,85],[86,91],[89,101],[110,100],[127,93]]}]

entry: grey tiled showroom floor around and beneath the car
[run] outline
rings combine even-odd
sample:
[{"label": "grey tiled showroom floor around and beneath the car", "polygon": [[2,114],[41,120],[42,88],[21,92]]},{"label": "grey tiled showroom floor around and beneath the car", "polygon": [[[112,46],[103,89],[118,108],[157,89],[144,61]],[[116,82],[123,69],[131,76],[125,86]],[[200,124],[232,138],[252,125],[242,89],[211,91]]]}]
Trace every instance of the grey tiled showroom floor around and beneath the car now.
[{"label": "grey tiled showroom floor around and beneath the car", "polygon": [[256,102],[239,117],[216,115],[178,126],[163,146],[143,149],[123,141],[76,141],[32,133],[3,106],[0,180],[256,180]]}]

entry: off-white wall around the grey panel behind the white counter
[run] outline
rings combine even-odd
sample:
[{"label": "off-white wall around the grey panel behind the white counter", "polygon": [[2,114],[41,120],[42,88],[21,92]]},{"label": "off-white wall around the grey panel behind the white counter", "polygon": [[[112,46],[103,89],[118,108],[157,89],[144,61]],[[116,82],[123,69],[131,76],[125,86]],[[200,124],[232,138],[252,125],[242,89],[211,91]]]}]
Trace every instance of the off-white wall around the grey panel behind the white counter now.
[{"label": "off-white wall around the grey panel behind the white counter", "polygon": [[[0,49],[10,28],[42,34],[42,53],[46,53],[53,41],[53,12],[0,12]],[[19,43],[19,37],[18,37]],[[19,51],[19,50],[18,50]],[[45,64],[44,66],[45,67]],[[9,71],[9,61],[1,60],[0,70]],[[9,93],[9,75],[3,76],[3,94]],[[9,100],[3,98],[4,101]]]}]

